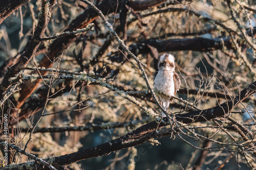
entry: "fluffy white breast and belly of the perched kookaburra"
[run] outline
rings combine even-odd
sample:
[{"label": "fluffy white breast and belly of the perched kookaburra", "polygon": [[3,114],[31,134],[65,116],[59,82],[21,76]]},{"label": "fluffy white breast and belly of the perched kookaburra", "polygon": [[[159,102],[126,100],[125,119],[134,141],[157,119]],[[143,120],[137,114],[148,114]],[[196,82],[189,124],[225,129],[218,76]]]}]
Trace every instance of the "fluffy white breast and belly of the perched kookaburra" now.
[{"label": "fluffy white breast and belly of the perched kookaburra", "polygon": [[174,73],[167,70],[159,70],[155,80],[154,88],[167,96],[174,95]]}]

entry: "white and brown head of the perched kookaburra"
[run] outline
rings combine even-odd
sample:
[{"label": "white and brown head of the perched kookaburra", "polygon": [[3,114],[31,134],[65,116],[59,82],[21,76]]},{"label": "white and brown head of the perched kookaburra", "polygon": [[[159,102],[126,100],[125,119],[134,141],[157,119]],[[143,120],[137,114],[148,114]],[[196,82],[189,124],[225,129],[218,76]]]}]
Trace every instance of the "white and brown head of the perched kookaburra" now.
[{"label": "white and brown head of the perched kookaburra", "polygon": [[172,54],[163,54],[160,56],[158,63],[159,70],[174,71],[175,63],[174,56]]}]

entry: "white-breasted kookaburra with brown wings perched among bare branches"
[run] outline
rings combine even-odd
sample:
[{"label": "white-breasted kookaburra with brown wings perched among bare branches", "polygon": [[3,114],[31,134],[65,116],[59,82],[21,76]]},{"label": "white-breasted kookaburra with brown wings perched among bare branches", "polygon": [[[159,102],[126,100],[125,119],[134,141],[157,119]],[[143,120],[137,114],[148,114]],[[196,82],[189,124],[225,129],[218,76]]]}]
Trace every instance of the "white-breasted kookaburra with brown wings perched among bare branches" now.
[{"label": "white-breasted kookaburra with brown wings perched among bare branches", "polygon": [[[154,90],[157,91],[157,97],[165,111],[169,104],[173,102],[172,96],[180,88],[180,77],[175,72],[175,62],[172,54],[163,54],[158,62],[158,70],[154,74]],[[163,95],[164,94],[164,95]],[[161,112],[162,117],[166,115]]]}]

